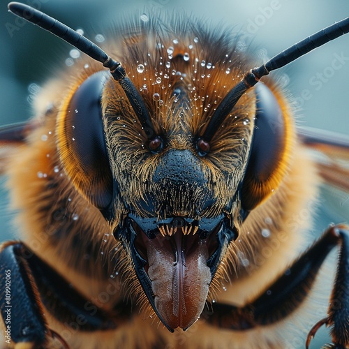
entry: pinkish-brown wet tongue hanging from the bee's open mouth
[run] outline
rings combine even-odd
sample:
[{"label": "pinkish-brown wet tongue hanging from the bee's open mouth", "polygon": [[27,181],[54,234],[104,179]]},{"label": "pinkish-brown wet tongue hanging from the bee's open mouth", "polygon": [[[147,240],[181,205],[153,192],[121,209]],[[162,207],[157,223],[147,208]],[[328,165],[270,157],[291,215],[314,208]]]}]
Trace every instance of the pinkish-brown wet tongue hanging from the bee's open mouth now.
[{"label": "pinkish-brown wet tongue hanging from the bee's open mouth", "polygon": [[175,329],[187,329],[198,320],[205,306],[211,272],[209,251],[198,235],[144,236],[155,306],[163,321]]}]

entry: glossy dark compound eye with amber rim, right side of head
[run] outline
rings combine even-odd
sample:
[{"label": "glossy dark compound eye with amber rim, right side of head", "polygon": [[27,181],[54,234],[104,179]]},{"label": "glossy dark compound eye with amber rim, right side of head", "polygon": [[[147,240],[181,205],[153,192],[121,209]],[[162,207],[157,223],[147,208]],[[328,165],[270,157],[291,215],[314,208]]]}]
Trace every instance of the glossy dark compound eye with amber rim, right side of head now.
[{"label": "glossy dark compound eye with amber rim, right side of head", "polygon": [[287,168],[288,125],[282,105],[265,85],[255,86],[255,130],[242,186],[242,207],[258,206],[279,187]]}]

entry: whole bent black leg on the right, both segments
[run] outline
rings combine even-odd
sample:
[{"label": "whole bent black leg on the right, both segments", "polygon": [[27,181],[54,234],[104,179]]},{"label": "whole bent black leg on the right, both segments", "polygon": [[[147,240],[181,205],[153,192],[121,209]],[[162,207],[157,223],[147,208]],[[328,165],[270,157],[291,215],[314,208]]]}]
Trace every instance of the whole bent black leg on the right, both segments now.
[{"label": "whole bent black leg on the right, both segments", "polygon": [[[276,323],[295,311],[309,293],[322,263],[332,248],[340,245],[341,255],[329,315],[323,323],[332,325],[334,348],[349,345],[349,230],[344,227],[331,227],[318,242],[303,253],[283,275],[264,290],[251,303],[238,308],[230,304],[213,303],[210,311],[202,315],[207,322],[217,327],[244,331],[255,327]],[[341,300],[341,304],[333,302]],[[319,326],[322,322],[319,323]],[[315,334],[318,327],[314,327]],[[309,339],[310,341],[310,339]],[[308,343],[309,344],[309,343]]]}]

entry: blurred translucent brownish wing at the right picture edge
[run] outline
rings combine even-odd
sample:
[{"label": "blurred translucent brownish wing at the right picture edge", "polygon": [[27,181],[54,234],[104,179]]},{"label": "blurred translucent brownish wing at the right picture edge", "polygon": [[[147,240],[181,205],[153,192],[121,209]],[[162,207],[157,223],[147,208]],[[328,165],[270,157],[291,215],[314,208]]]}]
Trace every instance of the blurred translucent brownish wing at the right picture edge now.
[{"label": "blurred translucent brownish wing at the right picture edge", "polygon": [[313,152],[325,182],[349,192],[349,136],[308,127],[299,127],[297,133]]}]

